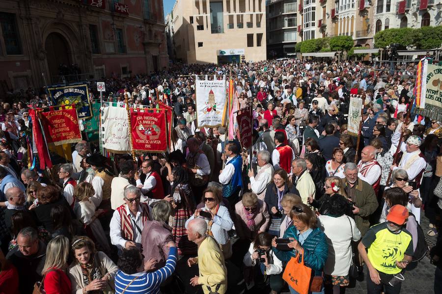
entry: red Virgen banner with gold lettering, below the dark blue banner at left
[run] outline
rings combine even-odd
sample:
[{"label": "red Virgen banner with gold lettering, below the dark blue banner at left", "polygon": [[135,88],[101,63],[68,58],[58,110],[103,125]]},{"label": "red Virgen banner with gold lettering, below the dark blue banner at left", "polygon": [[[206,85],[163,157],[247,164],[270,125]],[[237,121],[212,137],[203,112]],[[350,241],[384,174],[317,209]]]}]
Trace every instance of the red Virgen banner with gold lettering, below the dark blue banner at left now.
[{"label": "red Virgen banner with gold lettering, below the dark blue banner at left", "polygon": [[39,112],[40,120],[49,145],[76,143],[82,140],[77,110],[62,108],[48,112]]}]

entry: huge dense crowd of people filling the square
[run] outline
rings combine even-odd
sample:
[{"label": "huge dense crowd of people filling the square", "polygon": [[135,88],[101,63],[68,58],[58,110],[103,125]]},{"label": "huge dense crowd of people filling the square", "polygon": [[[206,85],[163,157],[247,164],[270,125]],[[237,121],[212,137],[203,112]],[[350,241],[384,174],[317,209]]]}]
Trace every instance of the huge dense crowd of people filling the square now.
[{"label": "huge dense crowd of people filling the square", "polygon": [[[287,59],[112,77],[105,100],[173,107],[168,152],[107,158],[84,140],[51,174],[28,166],[28,107],[51,101],[11,96],[0,293],[339,294],[363,271],[367,293],[400,293],[442,212],[442,125],[409,115],[414,72]],[[238,107],[253,108],[252,153],[238,130],[197,125],[196,75],[232,76]],[[352,94],[365,98],[359,137]],[[441,254],[438,242],[435,293]]]}]

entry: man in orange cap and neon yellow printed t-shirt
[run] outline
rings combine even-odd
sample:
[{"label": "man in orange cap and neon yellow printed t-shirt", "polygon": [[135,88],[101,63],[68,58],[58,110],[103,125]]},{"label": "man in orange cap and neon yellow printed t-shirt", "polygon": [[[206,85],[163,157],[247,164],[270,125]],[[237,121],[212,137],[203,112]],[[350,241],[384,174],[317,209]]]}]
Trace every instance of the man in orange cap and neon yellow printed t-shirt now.
[{"label": "man in orange cap and neon yellow printed t-shirt", "polygon": [[[413,257],[412,235],[405,229],[408,219],[405,206],[394,205],[387,222],[372,226],[358,245],[358,251],[368,267],[367,291],[399,294],[404,276],[402,270]],[[367,252],[368,251],[368,252]]]}]

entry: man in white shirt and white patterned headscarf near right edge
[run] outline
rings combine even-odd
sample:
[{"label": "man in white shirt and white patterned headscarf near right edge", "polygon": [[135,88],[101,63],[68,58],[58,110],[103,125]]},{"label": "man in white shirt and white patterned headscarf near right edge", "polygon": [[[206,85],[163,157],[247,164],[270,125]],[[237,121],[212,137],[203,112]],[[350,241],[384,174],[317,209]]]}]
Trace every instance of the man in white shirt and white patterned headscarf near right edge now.
[{"label": "man in white shirt and white patterned headscarf near right edge", "polygon": [[[403,152],[402,158],[399,161],[399,164],[391,165],[391,170],[395,170],[397,168],[402,168],[407,171],[409,182],[415,182],[416,189],[419,191],[419,199],[420,190],[419,186],[422,183],[422,176],[427,167],[427,162],[425,160],[424,154],[420,151],[419,147],[422,144],[422,139],[419,136],[411,135],[405,144],[402,144],[401,151]],[[411,212],[416,217],[416,221],[420,223],[420,207],[415,207],[412,204]]]}]

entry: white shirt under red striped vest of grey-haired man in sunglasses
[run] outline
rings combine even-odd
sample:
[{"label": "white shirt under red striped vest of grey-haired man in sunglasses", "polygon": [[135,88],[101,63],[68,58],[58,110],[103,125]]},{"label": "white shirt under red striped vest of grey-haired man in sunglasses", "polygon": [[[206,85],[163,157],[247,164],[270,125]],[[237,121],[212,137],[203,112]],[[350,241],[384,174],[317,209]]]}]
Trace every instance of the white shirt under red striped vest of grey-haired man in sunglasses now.
[{"label": "white shirt under red striped vest of grey-haired man in sunglasses", "polygon": [[[138,232],[138,229],[136,226],[134,226],[134,222],[138,225],[138,228],[142,231],[143,230],[143,219],[141,217],[142,209],[138,205],[138,212],[137,215],[134,216],[131,211],[129,210],[129,207],[127,204],[124,205],[126,208],[126,214],[129,215],[131,218],[131,225],[132,230],[134,232],[134,240],[126,240],[121,236],[121,217],[120,213],[115,210],[112,215],[111,224],[110,224],[110,235],[111,235],[111,243],[112,245],[115,245],[119,248],[124,248],[124,245],[126,244],[126,241],[134,241],[135,243],[141,243],[141,232]],[[150,209],[149,209],[150,210]]]}]

